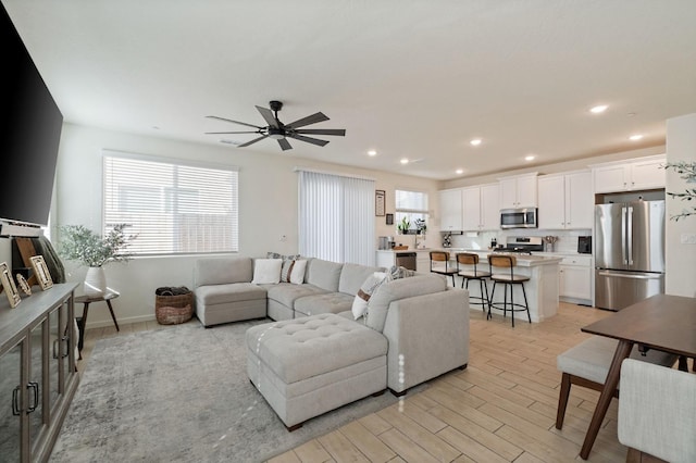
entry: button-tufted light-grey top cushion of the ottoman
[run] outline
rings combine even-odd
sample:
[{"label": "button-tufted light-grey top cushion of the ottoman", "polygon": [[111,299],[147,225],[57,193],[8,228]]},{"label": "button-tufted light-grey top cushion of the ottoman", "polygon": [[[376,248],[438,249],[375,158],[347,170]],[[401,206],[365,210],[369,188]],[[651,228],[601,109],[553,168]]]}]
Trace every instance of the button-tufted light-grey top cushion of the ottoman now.
[{"label": "button-tufted light-grey top cushion of the ottoman", "polygon": [[257,325],[247,348],[285,384],[386,355],[387,339],[335,314]]}]

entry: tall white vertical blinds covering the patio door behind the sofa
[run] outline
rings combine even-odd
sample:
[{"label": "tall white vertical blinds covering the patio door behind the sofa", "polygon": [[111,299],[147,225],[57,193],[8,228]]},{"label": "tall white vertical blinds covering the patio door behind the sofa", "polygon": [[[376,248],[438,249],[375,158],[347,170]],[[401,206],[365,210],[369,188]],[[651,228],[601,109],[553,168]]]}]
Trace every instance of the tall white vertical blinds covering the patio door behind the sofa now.
[{"label": "tall white vertical blinds covering the patio door behind the sofa", "polygon": [[374,265],[374,180],[299,172],[300,254]]}]

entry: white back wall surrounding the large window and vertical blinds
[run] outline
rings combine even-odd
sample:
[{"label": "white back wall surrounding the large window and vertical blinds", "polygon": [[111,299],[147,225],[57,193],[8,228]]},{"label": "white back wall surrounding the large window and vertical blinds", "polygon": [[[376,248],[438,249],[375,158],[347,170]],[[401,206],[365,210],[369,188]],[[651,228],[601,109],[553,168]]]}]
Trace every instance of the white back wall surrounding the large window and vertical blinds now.
[{"label": "white back wall surrounding the large window and vertical blinds", "polygon": [[[394,212],[395,188],[426,191],[432,199],[431,209],[437,210],[438,184],[435,180],[300,160],[298,157],[301,155],[301,147],[289,153],[270,155],[251,149],[181,142],[65,124],[58,163],[54,226],[79,224],[95,230],[101,229],[102,149],[238,166],[240,255],[264,256],[268,251],[297,252],[298,195],[295,166],[374,178],[375,189],[386,191],[387,212]],[[396,233],[395,225],[385,224],[385,217],[375,218],[376,249],[377,236]],[[287,236],[287,240],[279,241],[281,235]],[[53,236],[57,236],[54,232]],[[438,240],[438,234],[428,235],[430,246],[436,246]],[[59,242],[53,241],[59,246]],[[132,260],[126,264],[107,265],[104,268],[109,286],[122,295],[114,301],[119,321],[128,323],[153,320],[154,289],[182,285],[191,288],[195,260],[196,256],[148,258]],[[85,267],[74,263],[66,263],[66,267],[70,280],[84,279],[87,271]],[[105,306],[100,305],[104,304],[97,304],[90,311],[89,326],[111,325]]]}]

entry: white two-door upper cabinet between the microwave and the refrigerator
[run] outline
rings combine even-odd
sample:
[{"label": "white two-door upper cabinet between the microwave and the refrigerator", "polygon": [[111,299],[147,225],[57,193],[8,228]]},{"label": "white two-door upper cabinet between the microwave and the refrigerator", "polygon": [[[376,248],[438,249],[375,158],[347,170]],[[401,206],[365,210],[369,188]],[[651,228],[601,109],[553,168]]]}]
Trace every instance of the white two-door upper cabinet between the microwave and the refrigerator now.
[{"label": "white two-door upper cabinet between the microwave and the refrigerator", "polygon": [[594,196],[589,171],[538,178],[539,228],[592,228]]}]

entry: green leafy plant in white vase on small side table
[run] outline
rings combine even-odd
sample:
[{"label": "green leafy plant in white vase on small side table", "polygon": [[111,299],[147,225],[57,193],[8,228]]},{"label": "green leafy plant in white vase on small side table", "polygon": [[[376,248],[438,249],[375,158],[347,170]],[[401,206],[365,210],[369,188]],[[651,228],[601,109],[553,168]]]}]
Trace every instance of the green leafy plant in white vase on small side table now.
[{"label": "green leafy plant in white vase on small side table", "polygon": [[59,254],[87,266],[85,293],[102,295],[107,291],[103,265],[108,262],[126,262],[132,254],[125,252],[136,235],[126,235],[127,224],[116,224],[107,236],[101,237],[83,225],[60,227]]}]

